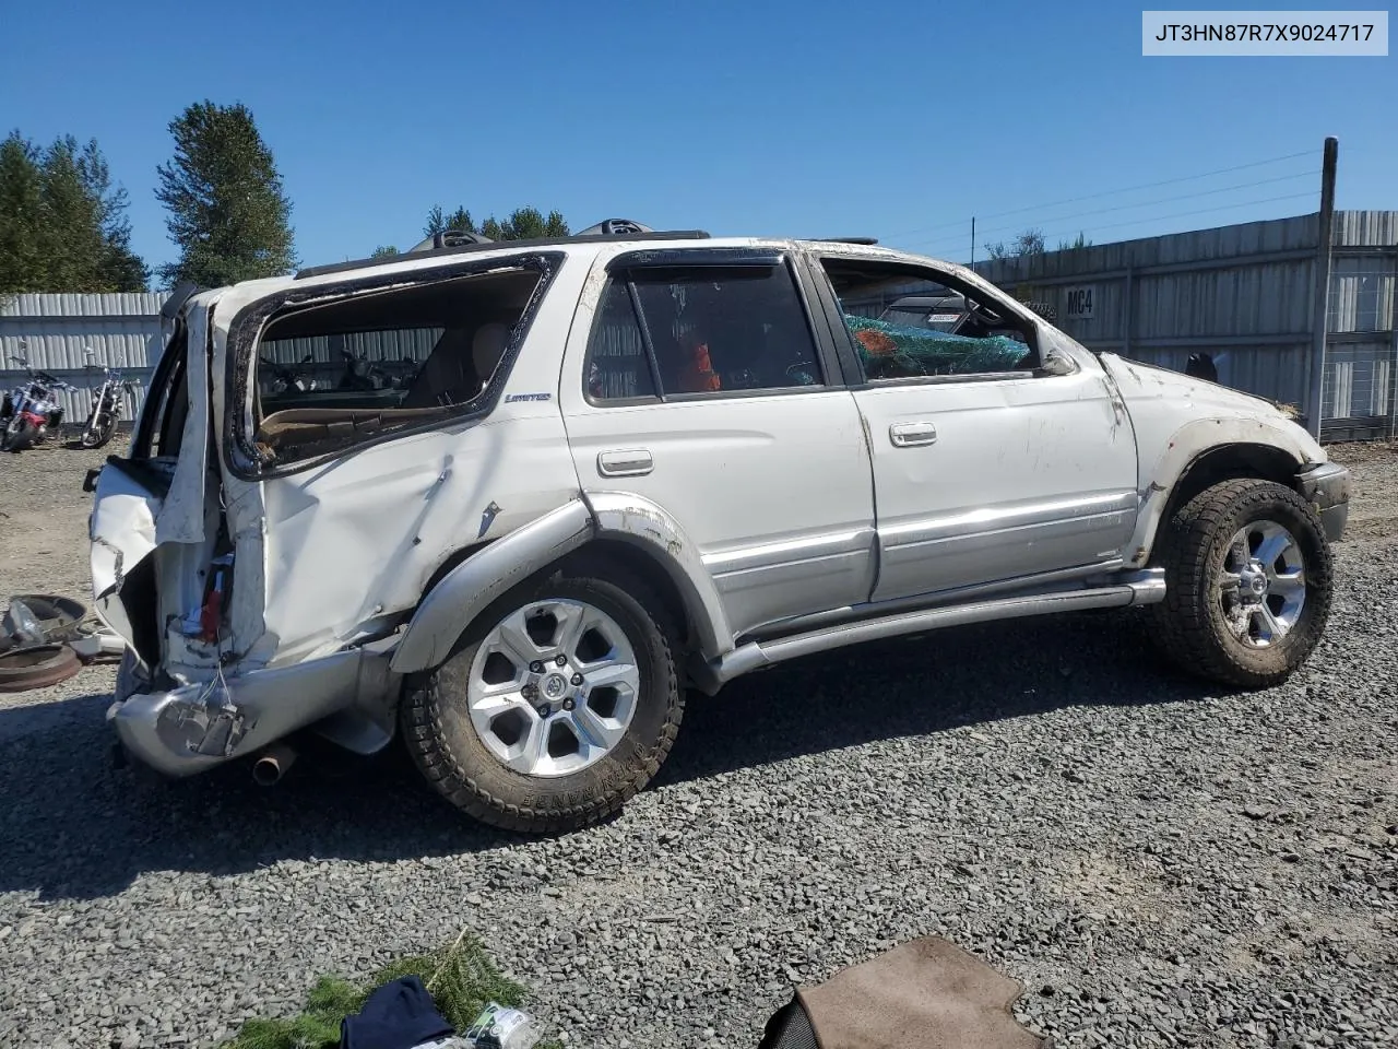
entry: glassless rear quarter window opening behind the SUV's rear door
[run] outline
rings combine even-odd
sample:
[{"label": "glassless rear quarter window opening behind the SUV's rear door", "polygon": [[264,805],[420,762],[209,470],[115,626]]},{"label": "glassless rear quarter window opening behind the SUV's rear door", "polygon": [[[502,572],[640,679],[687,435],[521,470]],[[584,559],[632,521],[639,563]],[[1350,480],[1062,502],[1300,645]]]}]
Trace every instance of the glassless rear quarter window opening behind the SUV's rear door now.
[{"label": "glassless rear quarter window opening behind the SUV's rear door", "polygon": [[470,411],[540,278],[537,270],[460,277],[273,319],[253,365],[260,453],[288,463]]}]

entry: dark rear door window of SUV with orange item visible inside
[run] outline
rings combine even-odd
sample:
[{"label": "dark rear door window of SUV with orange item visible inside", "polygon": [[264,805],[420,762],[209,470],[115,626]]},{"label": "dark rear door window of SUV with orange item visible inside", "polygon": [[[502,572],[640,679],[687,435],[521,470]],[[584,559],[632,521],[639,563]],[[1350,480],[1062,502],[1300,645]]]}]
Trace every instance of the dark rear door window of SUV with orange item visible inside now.
[{"label": "dark rear door window of SUV with orange item visible inside", "polygon": [[586,383],[593,400],[783,390],[823,382],[805,309],[786,266],[614,274],[589,340]]}]

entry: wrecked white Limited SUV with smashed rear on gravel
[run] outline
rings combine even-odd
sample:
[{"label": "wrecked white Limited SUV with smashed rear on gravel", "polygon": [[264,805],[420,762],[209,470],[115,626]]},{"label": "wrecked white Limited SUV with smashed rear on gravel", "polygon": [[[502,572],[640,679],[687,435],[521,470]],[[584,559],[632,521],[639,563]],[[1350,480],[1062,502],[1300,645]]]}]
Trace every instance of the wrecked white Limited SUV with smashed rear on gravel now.
[{"label": "wrecked white Limited SUV with smashed rear on gravel", "polygon": [[[879,320],[959,295],[953,333]],[[1348,473],[1272,404],[1092,354],[958,266],[619,222],[178,291],[89,485],[108,713],[171,775],[401,736],[554,831],[689,691],[930,628],[1153,606],[1186,670],[1304,660]]]}]

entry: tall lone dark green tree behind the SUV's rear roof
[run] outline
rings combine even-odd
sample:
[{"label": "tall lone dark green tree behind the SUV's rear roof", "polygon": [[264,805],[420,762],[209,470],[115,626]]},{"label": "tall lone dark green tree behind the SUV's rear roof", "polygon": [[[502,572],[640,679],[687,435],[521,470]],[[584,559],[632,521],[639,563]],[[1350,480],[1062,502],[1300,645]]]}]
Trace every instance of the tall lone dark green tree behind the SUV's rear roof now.
[{"label": "tall lone dark green tree behind the SUV's rear roof", "polygon": [[180,257],[161,267],[164,280],[219,287],[295,269],[291,201],[252,110],[196,102],[169,130],[175,157],[155,169],[155,199]]}]

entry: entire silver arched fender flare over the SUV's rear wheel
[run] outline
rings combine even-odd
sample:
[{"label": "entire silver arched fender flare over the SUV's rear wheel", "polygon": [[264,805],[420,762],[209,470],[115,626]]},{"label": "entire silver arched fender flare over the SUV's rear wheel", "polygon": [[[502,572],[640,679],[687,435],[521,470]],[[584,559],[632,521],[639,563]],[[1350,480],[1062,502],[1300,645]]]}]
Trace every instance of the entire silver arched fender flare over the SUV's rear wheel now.
[{"label": "entire silver arched fender flare over the SUV's rear wheel", "polygon": [[733,632],[699,550],[679,523],[649,499],[590,492],[498,538],[447,572],[422,599],[390,669],[411,674],[439,666],[492,601],[594,538],[639,547],[679,590],[706,659],[733,649]]}]

